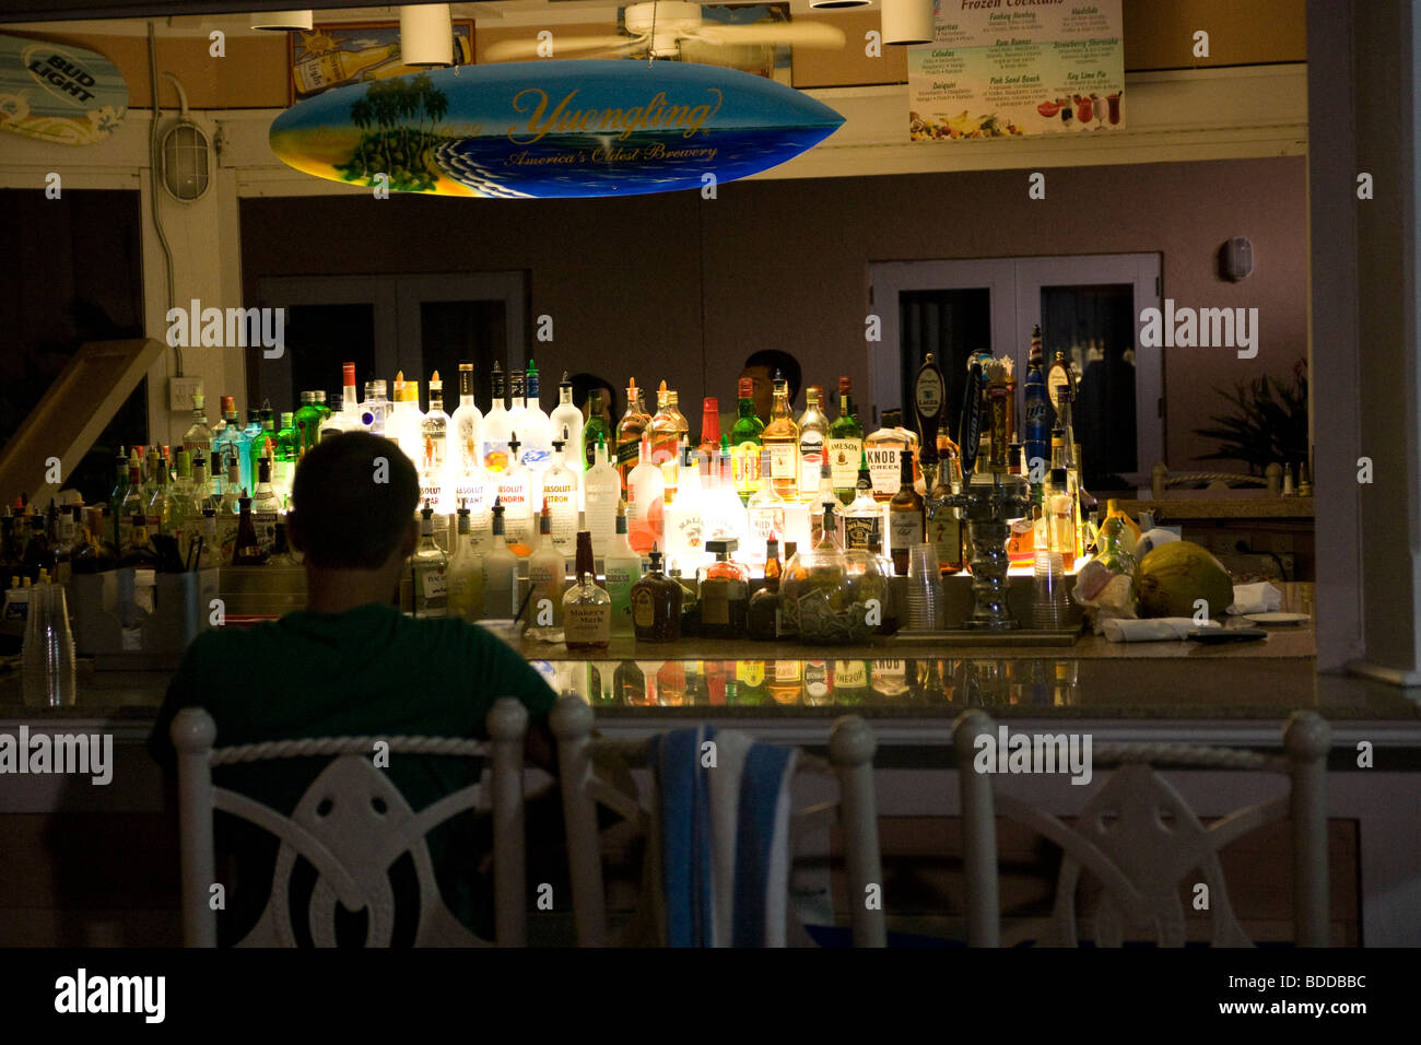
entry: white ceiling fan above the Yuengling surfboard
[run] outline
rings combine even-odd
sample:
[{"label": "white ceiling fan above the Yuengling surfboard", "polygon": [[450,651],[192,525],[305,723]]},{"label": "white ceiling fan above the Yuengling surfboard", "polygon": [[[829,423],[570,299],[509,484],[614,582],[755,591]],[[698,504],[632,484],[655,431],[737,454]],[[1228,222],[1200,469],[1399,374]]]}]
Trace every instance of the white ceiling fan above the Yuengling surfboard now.
[{"label": "white ceiling fan above the Yuengling surfboard", "polygon": [[[553,43],[553,54],[608,51],[627,57],[649,54],[652,58],[675,58],[681,55],[684,41],[712,45],[791,44],[821,48],[844,45],[843,31],[824,23],[769,21],[730,26],[702,20],[701,4],[682,0],[630,4],[622,13],[622,21],[627,27],[625,36],[558,36]],[[537,58],[540,45],[539,40],[531,37],[500,40],[485,51],[485,58],[489,61]]]}]

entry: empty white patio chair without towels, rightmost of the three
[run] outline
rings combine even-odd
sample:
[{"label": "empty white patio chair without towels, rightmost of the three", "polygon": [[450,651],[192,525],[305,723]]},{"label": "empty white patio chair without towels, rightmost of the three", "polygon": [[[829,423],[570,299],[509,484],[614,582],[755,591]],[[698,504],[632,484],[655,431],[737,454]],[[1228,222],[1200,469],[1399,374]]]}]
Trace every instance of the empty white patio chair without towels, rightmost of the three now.
[{"label": "empty white patio chair without towels, rightmost of the three", "polygon": [[[1161,947],[1185,944],[1179,889],[1208,886],[1214,947],[1252,947],[1229,906],[1219,850],[1266,823],[1292,819],[1293,921],[1300,947],[1327,945],[1327,749],[1331,731],[1314,711],[1296,711],[1283,729],[1285,755],[1185,744],[1097,744],[1093,765],[1120,768],[1086,800],[1074,826],[1029,802],[999,793],[992,773],[973,769],[976,738],[998,725],[982,709],[953,725],[962,791],[966,934],[972,947],[1000,945],[996,813],[1022,823],[1063,850],[1056,881],[1050,945],[1080,943],[1076,891],[1088,877],[1100,887],[1094,943],[1120,947],[1127,933]],[[1152,765],[1262,771],[1292,778],[1286,796],[1236,809],[1205,827],[1179,792]],[[1071,786],[1063,781],[1063,786]]]}]

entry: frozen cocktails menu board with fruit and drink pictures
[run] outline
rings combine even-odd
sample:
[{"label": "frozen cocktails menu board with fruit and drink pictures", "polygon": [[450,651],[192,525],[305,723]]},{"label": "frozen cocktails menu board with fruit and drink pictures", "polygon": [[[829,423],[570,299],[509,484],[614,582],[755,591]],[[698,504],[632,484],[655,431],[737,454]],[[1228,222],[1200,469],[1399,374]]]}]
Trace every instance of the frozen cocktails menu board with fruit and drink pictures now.
[{"label": "frozen cocktails menu board with fruit and drink pictures", "polygon": [[1125,125],[1121,0],[936,0],[908,48],[912,141],[1107,134]]}]

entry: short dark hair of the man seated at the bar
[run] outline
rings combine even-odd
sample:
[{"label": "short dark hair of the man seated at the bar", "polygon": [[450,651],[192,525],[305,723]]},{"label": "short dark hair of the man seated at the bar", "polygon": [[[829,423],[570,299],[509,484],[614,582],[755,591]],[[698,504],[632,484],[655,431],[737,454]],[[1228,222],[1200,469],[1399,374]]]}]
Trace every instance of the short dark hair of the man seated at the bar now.
[{"label": "short dark hair of the man seated at the bar", "polygon": [[419,476],[399,446],[369,432],[328,435],[291,481],[291,515],[313,566],[374,570],[419,505]]}]

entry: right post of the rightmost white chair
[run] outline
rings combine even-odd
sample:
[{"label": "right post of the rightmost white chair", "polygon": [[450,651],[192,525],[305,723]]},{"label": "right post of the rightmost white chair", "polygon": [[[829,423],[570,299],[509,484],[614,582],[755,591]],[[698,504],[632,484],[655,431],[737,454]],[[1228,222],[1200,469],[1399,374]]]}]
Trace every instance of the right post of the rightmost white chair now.
[{"label": "right post of the rightmost white chair", "polygon": [[1295,711],[1283,729],[1293,778],[1293,920],[1299,947],[1329,936],[1327,751],[1331,728],[1316,711]]}]

